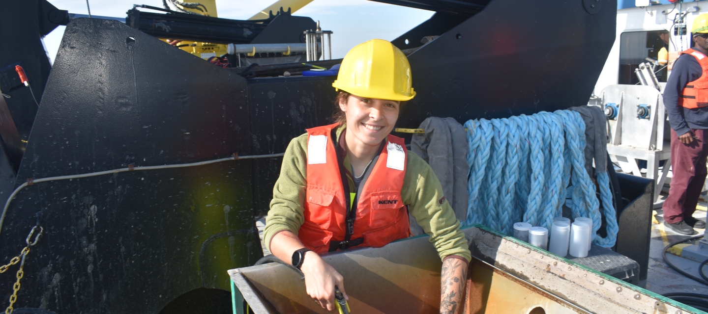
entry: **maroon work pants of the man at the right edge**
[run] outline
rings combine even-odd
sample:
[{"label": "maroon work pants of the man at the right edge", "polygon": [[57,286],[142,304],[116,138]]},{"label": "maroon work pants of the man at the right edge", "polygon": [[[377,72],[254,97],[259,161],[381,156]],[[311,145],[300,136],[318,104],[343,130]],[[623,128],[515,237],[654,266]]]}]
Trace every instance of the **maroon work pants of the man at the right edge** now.
[{"label": "maroon work pants of the man at the right edge", "polygon": [[[667,223],[677,223],[685,217],[690,217],[696,211],[703,183],[706,180],[706,158],[708,145],[704,135],[708,130],[691,129],[697,139],[691,144],[683,144],[678,135],[671,130],[671,187],[663,204],[664,220]],[[665,166],[666,167],[666,166]],[[658,193],[661,191],[655,191]]]}]

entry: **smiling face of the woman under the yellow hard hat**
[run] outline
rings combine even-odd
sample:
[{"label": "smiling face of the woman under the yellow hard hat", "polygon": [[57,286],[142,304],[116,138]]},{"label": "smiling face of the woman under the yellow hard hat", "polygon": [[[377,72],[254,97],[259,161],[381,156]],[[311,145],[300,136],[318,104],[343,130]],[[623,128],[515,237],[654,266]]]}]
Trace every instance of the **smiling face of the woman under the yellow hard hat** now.
[{"label": "smiling face of the woman under the yellow hard hat", "polygon": [[349,95],[339,107],[347,117],[347,132],[352,132],[362,144],[378,146],[388,136],[398,120],[401,103],[396,100],[363,98]]}]

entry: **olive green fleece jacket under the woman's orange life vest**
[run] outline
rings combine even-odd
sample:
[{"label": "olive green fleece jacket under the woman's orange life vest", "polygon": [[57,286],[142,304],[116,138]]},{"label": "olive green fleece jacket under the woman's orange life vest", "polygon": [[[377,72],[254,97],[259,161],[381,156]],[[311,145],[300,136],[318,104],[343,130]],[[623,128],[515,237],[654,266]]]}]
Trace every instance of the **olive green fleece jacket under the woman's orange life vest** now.
[{"label": "olive green fleece jacket under the woman's orange life vest", "polygon": [[[339,139],[343,129],[336,130]],[[338,143],[334,143],[337,146]],[[348,160],[344,162],[348,165]],[[292,231],[297,234],[303,223],[303,204],[307,187],[307,133],[290,141],[282,158],[280,178],[273,187],[273,200],[270,201],[270,211],[265,219],[263,242],[270,250],[270,239],[280,231]],[[423,227],[430,243],[438,250],[440,259],[449,255],[472,260],[467,240],[459,230],[459,221],[455,212],[442,194],[442,185],[433,173],[430,165],[408,151],[406,158],[406,176],[404,178],[401,197],[404,204],[409,205],[409,212]],[[442,200],[442,204],[440,204]]]}]

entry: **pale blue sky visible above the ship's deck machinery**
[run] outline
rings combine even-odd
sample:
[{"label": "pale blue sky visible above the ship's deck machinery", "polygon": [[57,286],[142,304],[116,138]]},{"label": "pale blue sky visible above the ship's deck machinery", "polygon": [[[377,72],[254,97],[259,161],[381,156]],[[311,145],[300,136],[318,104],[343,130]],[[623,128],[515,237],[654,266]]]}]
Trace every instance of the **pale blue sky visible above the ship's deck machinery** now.
[{"label": "pale blue sky visible above the ship's deck machinery", "polygon": [[[86,0],[49,0],[69,13],[87,14]],[[198,2],[190,0],[189,2]],[[219,18],[245,20],[275,1],[217,0]],[[125,18],[133,4],[162,6],[162,0],[89,0],[91,14]],[[320,21],[324,30],[332,30],[332,55],[341,58],[355,45],[372,38],[393,40],[433,15],[431,11],[381,4],[367,0],[314,0],[296,13]],[[45,37],[45,46],[52,62],[59,50],[64,26]]]}]

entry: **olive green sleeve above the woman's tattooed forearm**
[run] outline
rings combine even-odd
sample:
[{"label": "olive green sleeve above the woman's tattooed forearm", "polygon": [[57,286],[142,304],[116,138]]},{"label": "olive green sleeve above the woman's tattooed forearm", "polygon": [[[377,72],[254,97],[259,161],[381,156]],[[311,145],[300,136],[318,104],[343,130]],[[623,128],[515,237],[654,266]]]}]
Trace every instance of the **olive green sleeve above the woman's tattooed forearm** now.
[{"label": "olive green sleeve above the woman's tattooed forearm", "polygon": [[428,163],[411,151],[401,197],[418,225],[430,236],[429,241],[441,260],[450,255],[464,257],[467,262],[472,260],[467,239],[459,230],[460,223],[442,193],[438,177]]}]

